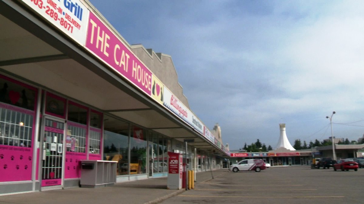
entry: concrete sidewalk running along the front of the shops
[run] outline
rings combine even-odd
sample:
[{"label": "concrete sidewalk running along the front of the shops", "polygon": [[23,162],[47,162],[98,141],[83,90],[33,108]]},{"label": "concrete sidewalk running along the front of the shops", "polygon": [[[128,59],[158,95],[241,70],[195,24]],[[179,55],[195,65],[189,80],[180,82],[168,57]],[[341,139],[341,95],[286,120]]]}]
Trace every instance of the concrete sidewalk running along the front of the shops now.
[{"label": "concrete sidewalk running along the front of the shops", "polygon": [[[225,174],[227,169],[212,171],[213,177]],[[196,183],[212,179],[211,172],[197,172]],[[100,188],[68,188],[43,192],[21,193],[0,196],[0,203],[31,203],[31,204],[58,204],[58,203],[158,203],[164,199],[182,193],[185,189],[167,189],[167,177],[128,181],[110,187]]]}]

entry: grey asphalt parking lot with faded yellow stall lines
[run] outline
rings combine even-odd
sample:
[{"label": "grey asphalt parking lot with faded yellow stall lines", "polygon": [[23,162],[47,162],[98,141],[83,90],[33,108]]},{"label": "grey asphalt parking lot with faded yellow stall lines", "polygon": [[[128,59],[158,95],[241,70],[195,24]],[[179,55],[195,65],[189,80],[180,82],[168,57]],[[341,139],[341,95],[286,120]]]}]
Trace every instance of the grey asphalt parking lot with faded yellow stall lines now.
[{"label": "grey asphalt parking lot with faded yellow stall lines", "polygon": [[179,203],[364,203],[364,169],[333,171],[309,166],[229,172],[164,200]]}]

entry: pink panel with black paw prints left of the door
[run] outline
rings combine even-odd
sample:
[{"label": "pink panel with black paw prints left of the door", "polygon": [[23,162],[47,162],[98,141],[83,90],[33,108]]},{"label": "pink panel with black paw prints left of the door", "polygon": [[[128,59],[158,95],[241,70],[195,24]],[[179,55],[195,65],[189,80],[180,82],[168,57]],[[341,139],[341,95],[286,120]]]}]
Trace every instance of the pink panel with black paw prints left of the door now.
[{"label": "pink panel with black paw prints left of the door", "polygon": [[32,180],[32,148],[0,145],[0,182]]}]

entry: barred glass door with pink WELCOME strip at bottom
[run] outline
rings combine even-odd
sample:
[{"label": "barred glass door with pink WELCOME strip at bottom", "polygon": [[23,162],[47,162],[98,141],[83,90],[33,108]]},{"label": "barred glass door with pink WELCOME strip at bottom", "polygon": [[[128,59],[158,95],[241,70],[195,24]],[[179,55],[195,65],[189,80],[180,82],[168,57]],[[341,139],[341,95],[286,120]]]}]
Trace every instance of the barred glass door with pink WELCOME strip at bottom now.
[{"label": "barred glass door with pink WELCOME strip at bottom", "polygon": [[41,186],[62,185],[64,121],[44,117]]}]

